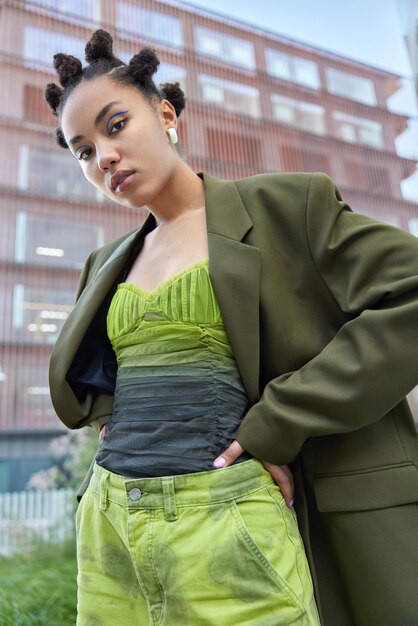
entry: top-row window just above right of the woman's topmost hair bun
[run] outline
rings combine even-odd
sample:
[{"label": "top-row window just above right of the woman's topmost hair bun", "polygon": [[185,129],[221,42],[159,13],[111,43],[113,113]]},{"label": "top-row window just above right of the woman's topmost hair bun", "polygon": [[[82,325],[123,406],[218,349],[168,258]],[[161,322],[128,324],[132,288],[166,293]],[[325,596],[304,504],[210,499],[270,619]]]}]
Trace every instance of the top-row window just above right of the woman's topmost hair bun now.
[{"label": "top-row window just above right of the woman's topmost hair bun", "polygon": [[160,11],[150,11],[128,2],[118,2],[117,26],[126,33],[132,33],[136,40],[140,35],[177,48],[183,45],[181,20]]}]

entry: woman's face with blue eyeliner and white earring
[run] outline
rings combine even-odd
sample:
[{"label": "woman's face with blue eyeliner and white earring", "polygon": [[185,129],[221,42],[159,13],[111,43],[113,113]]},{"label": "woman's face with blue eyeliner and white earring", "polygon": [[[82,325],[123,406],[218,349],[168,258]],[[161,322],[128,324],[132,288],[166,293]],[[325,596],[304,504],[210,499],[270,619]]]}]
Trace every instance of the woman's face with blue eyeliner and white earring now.
[{"label": "woman's face with blue eyeliner and white earring", "polygon": [[166,100],[152,107],[134,87],[100,77],[75,88],[61,128],[87,180],[136,208],[152,205],[179,164],[166,135],[176,121]]}]

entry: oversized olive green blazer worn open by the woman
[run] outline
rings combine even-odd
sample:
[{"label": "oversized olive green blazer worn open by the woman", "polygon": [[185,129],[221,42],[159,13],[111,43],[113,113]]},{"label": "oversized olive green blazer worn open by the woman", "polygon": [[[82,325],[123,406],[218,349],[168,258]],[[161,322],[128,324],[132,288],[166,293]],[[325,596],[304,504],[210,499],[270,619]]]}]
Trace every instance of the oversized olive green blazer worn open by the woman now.
[{"label": "oversized olive green blazer worn open by the woman", "polygon": [[[202,176],[210,276],[250,404],[237,438],[257,458],[292,463],[323,623],[391,626],[368,616],[361,577],[367,563],[396,568],[395,547],[383,558],[380,544],[353,546],[382,511],[411,505],[418,527],[418,438],[404,399],[418,384],[418,239],[353,213],[324,174]],[[77,376],[108,344],[109,299],[154,225],[150,215],[86,263],[51,358],[52,401],[69,428],[99,428],[112,412],[106,367],[102,388],[77,387]],[[402,519],[399,532],[412,532]]]}]

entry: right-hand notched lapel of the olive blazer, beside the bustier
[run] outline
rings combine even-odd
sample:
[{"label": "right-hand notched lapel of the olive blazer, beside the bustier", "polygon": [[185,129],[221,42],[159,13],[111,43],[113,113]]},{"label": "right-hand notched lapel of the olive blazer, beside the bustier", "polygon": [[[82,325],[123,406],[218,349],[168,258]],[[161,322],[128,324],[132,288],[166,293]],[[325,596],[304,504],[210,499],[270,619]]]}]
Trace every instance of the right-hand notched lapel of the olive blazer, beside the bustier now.
[{"label": "right-hand notched lapel of the olive blazer, beside the bustier", "polygon": [[259,399],[261,255],[243,242],[252,221],[236,185],[207,174],[205,185],[209,273],[242,381],[251,403]]}]

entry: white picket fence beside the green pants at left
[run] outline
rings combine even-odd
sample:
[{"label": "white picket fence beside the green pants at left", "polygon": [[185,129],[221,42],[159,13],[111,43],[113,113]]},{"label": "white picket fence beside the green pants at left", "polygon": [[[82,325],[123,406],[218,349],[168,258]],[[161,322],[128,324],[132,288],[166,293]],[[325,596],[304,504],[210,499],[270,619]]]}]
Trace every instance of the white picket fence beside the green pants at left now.
[{"label": "white picket fence beside the green pants at left", "polygon": [[74,533],[72,489],[0,493],[0,555],[27,549],[34,539],[61,542]]}]

